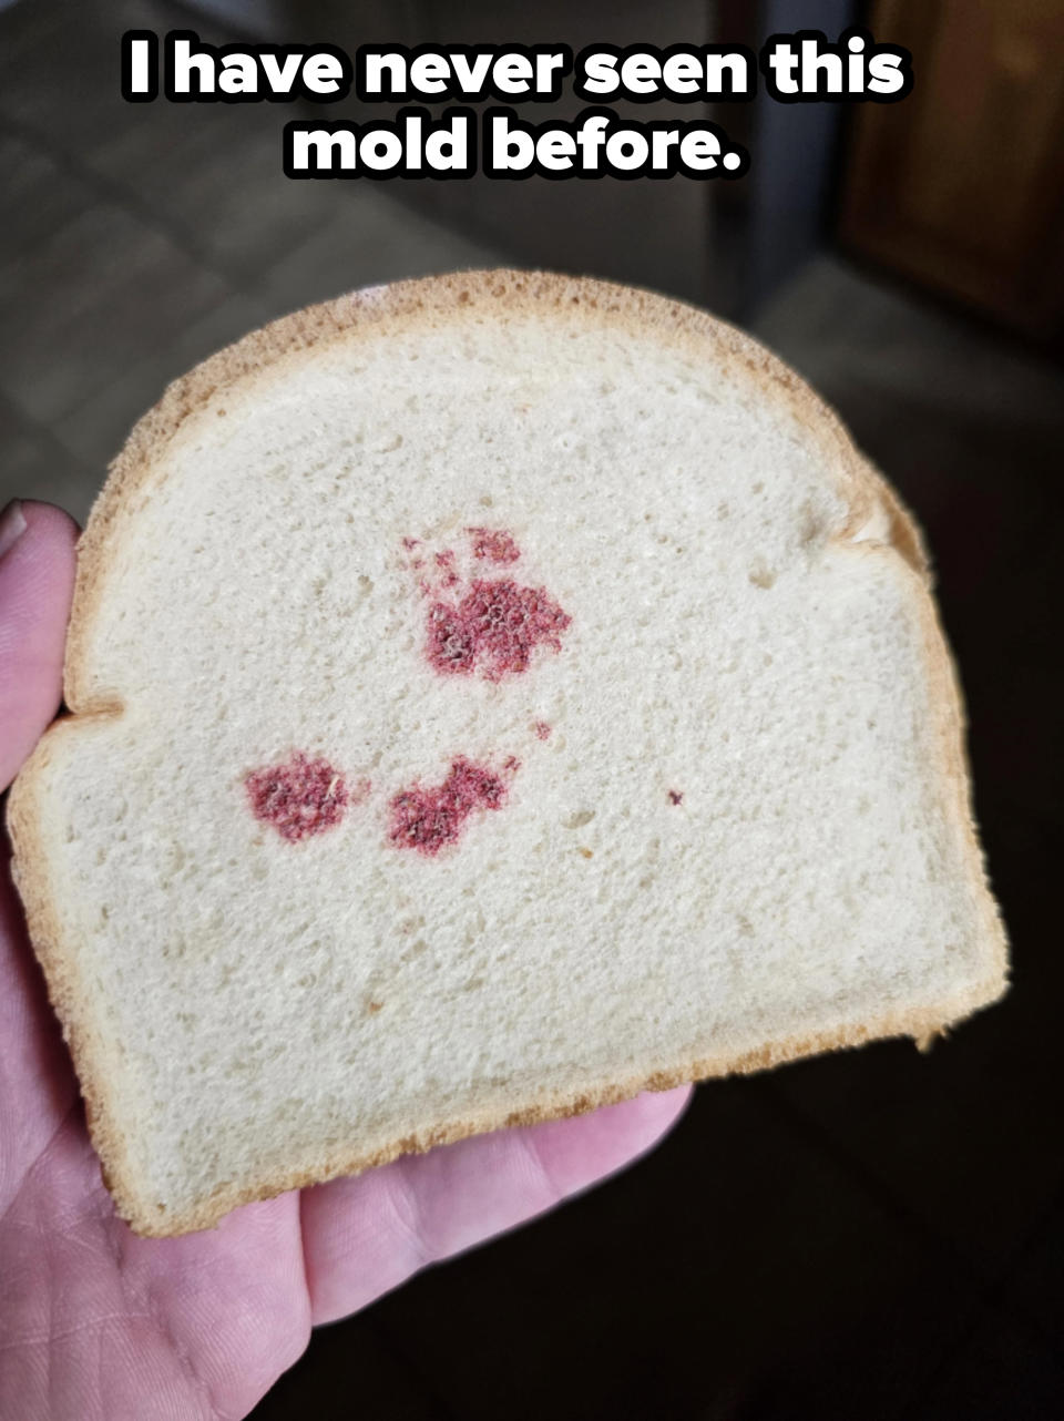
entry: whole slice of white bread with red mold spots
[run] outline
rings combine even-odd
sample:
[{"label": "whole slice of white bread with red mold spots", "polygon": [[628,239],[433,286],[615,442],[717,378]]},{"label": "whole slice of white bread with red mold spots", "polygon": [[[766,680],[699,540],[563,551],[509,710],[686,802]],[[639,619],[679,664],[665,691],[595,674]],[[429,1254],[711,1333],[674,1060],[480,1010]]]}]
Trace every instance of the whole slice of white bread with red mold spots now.
[{"label": "whole slice of white bread with red mold spots", "polygon": [[17,881],[143,1233],[1004,990],[912,523],[642,291],[374,288],[178,381],[67,703]]}]

